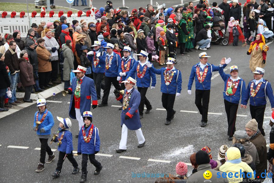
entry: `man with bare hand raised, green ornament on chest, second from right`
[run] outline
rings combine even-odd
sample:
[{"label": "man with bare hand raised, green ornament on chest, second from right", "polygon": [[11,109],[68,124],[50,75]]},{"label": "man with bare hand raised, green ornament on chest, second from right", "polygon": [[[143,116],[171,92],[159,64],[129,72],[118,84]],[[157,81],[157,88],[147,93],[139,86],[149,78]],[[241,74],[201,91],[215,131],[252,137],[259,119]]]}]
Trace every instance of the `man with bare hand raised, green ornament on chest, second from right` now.
[{"label": "man with bare hand raised, green ornament on chest, second from right", "polygon": [[225,74],[223,72],[223,64],[225,61],[222,60],[219,66],[219,74],[222,77],[224,83],[223,98],[225,109],[227,113],[227,122],[228,122],[228,140],[232,140],[234,132],[236,131],[236,117],[237,110],[239,106],[240,98],[245,94],[245,82],[238,76],[238,67],[231,66],[230,74]]}]

